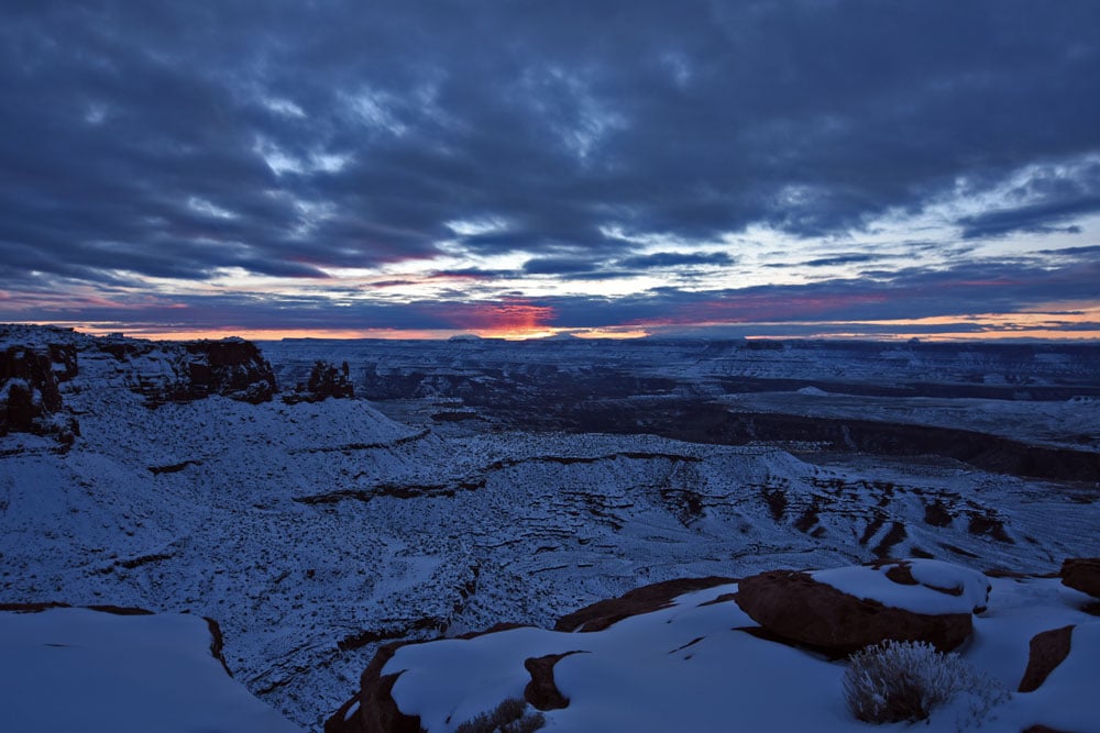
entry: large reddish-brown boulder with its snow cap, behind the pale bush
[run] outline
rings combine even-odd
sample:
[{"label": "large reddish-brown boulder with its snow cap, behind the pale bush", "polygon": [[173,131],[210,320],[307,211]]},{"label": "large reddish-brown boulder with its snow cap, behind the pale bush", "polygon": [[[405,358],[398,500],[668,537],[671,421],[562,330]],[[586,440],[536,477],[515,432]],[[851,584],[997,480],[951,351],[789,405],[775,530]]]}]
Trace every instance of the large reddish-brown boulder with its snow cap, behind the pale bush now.
[{"label": "large reddish-brown boulder with its snow cap, behind the pale bush", "polygon": [[735,600],[778,640],[845,656],[886,640],[963,644],[982,610],[980,573],[935,560],[890,560],[818,573],[772,570],[740,581]]}]

